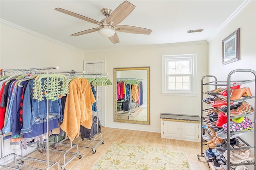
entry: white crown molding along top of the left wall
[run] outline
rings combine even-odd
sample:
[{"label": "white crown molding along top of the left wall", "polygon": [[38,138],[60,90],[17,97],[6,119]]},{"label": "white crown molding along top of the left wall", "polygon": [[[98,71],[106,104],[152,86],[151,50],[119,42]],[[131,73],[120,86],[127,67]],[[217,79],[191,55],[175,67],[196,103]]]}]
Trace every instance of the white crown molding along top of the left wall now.
[{"label": "white crown molding along top of the left wall", "polygon": [[71,46],[71,45],[68,45],[68,44],[66,44],[66,43],[60,42],[60,41],[58,41],[58,40],[54,40],[53,38],[49,38],[49,37],[47,37],[47,36],[44,36],[44,35],[42,35],[42,34],[39,34],[39,33],[37,33],[37,32],[34,32],[34,31],[32,31],[32,30],[28,30],[27,28],[24,28],[24,27],[22,27],[22,26],[18,26],[18,25],[16,25],[16,24],[13,24],[12,22],[8,22],[8,21],[6,21],[6,20],[3,20],[2,18],[0,18],[0,24],[4,24],[4,25],[9,26],[9,27],[11,27],[11,28],[20,30],[20,31],[22,31],[22,32],[26,32],[26,33],[31,34],[31,35],[34,35],[34,36],[38,36],[38,37],[40,37],[40,38],[44,38],[44,39],[49,40],[49,41],[51,41],[51,42],[58,43],[58,44],[60,44],[60,45],[64,45],[64,46],[69,47],[69,48],[72,48],[72,49],[76,49],[76,50],[78,50],[78,51],[84,51],[84,50],[82,50],[82,49],[73,47],[73,46]]}]

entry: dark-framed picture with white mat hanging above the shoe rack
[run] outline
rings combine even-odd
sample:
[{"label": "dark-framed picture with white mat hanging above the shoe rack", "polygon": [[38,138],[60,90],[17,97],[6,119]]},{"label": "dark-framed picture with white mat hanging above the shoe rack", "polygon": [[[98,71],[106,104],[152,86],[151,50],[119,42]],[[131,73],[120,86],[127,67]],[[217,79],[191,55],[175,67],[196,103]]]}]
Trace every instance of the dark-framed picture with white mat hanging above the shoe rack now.
[{"label": "dark-framed picture with white mat hanging above the shoe rack", "polygon": [[222,40],[222,65],[239,60],[240,28]]}]

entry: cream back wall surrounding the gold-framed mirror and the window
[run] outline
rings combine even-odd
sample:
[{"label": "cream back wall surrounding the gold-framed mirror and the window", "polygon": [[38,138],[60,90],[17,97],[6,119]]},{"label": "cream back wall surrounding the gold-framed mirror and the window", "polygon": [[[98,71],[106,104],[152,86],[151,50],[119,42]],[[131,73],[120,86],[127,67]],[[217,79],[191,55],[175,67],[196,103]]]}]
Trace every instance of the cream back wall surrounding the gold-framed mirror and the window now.
[{"label": "cream back wall surrounding the gold-framed mirror and the window", "polygon": [[[197,95],[162,95],[162,55],[197,54]],[[113,78],[113,68],[150,67],[150,125],[114,122],[114,87],[106,88],[105,126],[160,132],[160,113],[200,115],[201,77],[208,74],[208,43],[187,42],[116,51],[85,52],[84,60],[106,59],[106,73]]]}]

